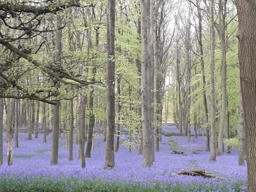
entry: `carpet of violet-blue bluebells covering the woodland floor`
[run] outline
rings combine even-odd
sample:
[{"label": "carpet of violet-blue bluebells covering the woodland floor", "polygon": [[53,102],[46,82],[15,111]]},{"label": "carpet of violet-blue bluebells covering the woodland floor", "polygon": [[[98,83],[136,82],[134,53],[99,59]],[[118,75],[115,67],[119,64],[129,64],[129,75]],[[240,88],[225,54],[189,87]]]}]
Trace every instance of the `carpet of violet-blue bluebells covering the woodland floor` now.
[{"label": "carpet of violet-blue bluebells covering the woodland floor", "polygon": [[[164,132],[178,132],[171,125],[163,127]],[[209,161],[209,152],[205,152],[205,139],[202,136],[188,142],[183,136],[163,136],[160,152],[156,152],[156,162],[150,168],[144,168],[143,156],[138,155],[136,148],[129,152],[127,147],[120,147],[115,152],[115,169],[104,170],[105,143],[101,134],[96,134],[92,158],[86,159],[86,168],[80,168],[77,145],[74,145],[74,161],[68,161],[68,149],[65,147],[65,138],[60,138],[59,164],[51,165],[51,135],[47,143],[42,143],[42,134],[33,140],[26,140],[26,134],[20,133],[19,148],[13,148],[13,165],[7,166],[4,162],[0,166],[0,176],[22,178],[51,177],[56,180],[65,177],[74,177],[85,180],[103,180],[106,182],[161,182],[165,184],[199,184],[218,185],[236,181],[246,182],[246,166],[237,164],[237,150],[231,154],[218,156],[217,160]],[[172,154],[172,150],[185,152],[186,156]],[[6,143],[4,143],[6,150]],[[214,179],[204,177],[180,176],[175,173],[181,170],[203,168],[216,175]],[[244,186],[245,188],[245,186]]]}]

